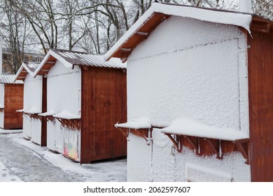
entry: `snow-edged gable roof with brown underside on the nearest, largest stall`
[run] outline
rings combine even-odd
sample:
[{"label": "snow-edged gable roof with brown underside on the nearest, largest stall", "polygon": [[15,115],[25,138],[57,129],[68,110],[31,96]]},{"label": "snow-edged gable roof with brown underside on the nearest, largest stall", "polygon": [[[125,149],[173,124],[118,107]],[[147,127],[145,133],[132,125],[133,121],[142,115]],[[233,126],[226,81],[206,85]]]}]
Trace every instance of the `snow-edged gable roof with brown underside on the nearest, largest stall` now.
[{"label": "snow-edged gable roof with brown underside on the nearest, largest stall", "polygon": [[[123,62],[127,60],[132,50],[141,41],[146,39],[163,20],[170,15],[183,18],[193,18],[207,22],[217,22],[225,25],[243,27],[249,33],[252,15],[248,13],[232,12],[227,10],[212,10],[193,6],[182,6],[170,3],[153,3],[144,15],[113,45],[104,55],[105,60],[118,57]],[[170,29],[172,31],[172,29]]]}]

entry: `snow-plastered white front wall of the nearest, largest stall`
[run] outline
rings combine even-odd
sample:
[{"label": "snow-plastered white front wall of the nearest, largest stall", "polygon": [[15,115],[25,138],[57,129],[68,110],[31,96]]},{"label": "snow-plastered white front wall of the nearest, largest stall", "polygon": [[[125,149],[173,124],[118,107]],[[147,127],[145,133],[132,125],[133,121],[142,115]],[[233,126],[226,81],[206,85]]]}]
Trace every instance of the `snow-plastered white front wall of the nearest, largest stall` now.
[{"label": "snow-plastered white front wall of the nearest, largest stall", "polygon": [[[186,117],[248,134],[246,50],[246,36],[235,26],[170,17],[128,58],[128,120],[148,116],[153,126],[166,127],[172,120]],[[160,132],[154,132],[161,138],[159,141],[165,141]],[[130,147],[136,142],[141,141],[130,135],[127,174],[128,179],[141,181],[146,171],[136,173],[134,168],[139,167],[139,162],[149,165],[150,160],[148,149],[139,155]],[[221,162],[216,158],[205,161],[207,158],[189,151],[172,159],[171,146],[167,144],[161,150],[153,147],[153,181],[187,181],[189,157],[197,165],[217,165],[218,170],[232,174],[235,181],[250,181],[250,167],[241,155],[227,155]],[[172,179],[169,174],[178,171],[179,175]]]}]

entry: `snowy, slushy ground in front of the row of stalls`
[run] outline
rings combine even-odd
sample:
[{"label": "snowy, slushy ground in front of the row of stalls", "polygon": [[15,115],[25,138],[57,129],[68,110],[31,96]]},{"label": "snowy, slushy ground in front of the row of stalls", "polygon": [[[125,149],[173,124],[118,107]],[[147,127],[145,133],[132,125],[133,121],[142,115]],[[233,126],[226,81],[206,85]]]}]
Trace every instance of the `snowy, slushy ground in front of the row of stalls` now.
[{"label": "snowy, slushy ground in front of the row of stalls", "polygon": [[0,130],[0,181],[127,181],[127,161],[80,165],[22,137]]}]

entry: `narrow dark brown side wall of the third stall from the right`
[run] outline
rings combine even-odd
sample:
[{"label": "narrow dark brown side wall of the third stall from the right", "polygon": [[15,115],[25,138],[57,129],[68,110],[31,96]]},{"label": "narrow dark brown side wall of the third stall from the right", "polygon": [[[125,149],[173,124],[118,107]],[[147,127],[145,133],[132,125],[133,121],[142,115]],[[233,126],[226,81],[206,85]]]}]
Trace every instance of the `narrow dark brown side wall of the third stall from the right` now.
[{"label": "narrow dark brown side wall of the third stall from the right", "polygon": [[[48,78],[43,77],[43,85],[42,85],[42,93],[43,93],[43,97],[42,97],[42,113],[47,111],[47,80]],[[41,118],[41,146],[46,146],[47,144],[47,125],[48,122],[46,120],[46,118]]]}]

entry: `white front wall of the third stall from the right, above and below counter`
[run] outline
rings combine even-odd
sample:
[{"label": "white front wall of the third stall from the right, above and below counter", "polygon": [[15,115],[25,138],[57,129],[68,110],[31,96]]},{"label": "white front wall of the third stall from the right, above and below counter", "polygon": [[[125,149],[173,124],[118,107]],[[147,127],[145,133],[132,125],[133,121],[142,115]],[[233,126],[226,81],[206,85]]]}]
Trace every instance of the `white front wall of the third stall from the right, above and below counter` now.
[{"label": "white front wall of the third stall from the right, above and below counter", "polygon": [[[24,82],[24,109],[35,108],[42,111],[43,76],[33,78],[27,74]],[[41,120],[23,116],[24,137],[41,145]]]}]

